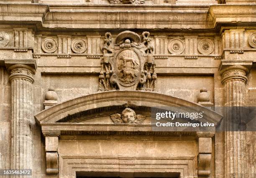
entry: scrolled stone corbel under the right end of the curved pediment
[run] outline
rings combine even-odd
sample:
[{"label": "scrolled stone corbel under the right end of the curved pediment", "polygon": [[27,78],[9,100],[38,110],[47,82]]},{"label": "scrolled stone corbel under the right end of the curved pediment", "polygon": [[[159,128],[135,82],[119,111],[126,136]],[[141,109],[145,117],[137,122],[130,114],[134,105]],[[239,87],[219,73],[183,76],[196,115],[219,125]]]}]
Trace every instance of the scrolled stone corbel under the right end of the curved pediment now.
[{"label": "scrolled stone corbel under the right end of the curved pediment", "polygon": [[209,176],[212,160],[212,137],[214,132],[197,132],[198,176]]}]

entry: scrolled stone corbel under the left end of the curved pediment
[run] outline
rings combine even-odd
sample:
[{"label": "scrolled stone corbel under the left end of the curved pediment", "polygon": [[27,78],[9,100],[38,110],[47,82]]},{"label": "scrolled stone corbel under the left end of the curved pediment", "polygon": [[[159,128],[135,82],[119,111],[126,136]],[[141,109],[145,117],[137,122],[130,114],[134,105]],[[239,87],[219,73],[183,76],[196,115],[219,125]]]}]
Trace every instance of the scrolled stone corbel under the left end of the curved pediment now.
[{"label": "scrolled stone corbel under the left end of the curved pediment", "polygon": [[59,173],[59,136],[60,131],[42,130],[45,137],[45,151],[46,151],[46,173]]}]

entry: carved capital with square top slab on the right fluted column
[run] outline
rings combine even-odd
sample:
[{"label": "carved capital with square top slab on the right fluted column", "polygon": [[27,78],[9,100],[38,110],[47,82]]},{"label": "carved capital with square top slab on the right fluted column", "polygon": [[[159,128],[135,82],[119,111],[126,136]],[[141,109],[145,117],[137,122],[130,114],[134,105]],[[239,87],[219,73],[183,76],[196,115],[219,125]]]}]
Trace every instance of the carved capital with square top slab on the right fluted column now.
[{"label": "carved capital with square top slab on the right fluted column", "polygon": [[246,75],[249,73],[253,61],[250,60],[221,60],[219,73],[222,78],[221,82],[227,80],[240,79],[247,82]]}]

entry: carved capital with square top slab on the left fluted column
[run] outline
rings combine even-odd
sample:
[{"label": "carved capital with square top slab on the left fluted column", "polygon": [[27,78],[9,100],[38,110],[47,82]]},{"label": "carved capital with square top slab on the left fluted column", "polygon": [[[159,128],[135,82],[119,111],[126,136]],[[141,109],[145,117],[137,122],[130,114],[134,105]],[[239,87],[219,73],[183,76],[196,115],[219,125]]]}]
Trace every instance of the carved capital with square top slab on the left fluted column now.
[{"label": "carved capital with square top slab on the left fluted column", "polygon": [[26,78],[34,83],[33,75],[36,74],[36,61],[27,59],[5,59],[5,67],[10,71],[9,80]]}]

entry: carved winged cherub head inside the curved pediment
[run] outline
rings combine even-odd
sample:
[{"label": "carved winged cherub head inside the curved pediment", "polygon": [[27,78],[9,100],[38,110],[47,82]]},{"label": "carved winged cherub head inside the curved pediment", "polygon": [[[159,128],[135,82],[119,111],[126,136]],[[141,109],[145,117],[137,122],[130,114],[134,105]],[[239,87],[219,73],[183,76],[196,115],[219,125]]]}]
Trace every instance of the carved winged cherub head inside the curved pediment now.
[{"label": "carved winged cherub head inside the curved pediment", "polygon": [[110,118],[113,123],[143,123],[146,116],[136,114],[131,108],[125,108],[121,114],[111,114]]}]

